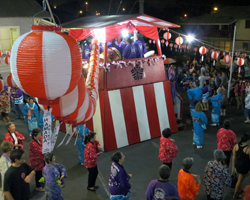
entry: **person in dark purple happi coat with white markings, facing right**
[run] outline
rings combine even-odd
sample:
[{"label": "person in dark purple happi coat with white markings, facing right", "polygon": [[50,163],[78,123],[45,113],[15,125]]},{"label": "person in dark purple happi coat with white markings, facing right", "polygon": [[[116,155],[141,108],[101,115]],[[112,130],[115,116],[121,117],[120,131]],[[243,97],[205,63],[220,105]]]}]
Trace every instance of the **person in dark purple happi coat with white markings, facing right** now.
[{"label": "person in dark purple happi coat with white markings, facing right", "polygon": [[113,163],[109,178],[110,200],[129,199],[129,190],[131,188],[129,179],[132,174],[128,174],[122,166],[124,158],[122,152],[116,152],[111,157]]}]

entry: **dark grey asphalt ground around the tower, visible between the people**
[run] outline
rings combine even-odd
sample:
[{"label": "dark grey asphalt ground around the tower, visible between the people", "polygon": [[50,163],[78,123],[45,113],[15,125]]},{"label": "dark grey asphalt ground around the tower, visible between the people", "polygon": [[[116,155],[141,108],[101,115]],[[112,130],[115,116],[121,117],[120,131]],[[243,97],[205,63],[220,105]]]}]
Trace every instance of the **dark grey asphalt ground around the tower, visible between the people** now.
[{"label": "dark grey asphalt ground around the tower, visible between the people", "polygon": [[[184,121],[189,117],[187,95],[185,91],[180,91],[184,99]],[[241,133],[249,130],[250,124],[246,125],[243,123],[244,117],[242,110],[237,110],[235,105],[228,106],[227,118],[232,120],[232,130],[235,131],[239,138]],[[211,111],[211,109],[210,109]],[[211,112],[207,113],[209,122]],[[221,118],[221,122],[226,117]],[[28,144],[31,138],[27,135],[26,124],[24,121],[16,120],[16,130],[23,133],[25,139],[25,152],[26,158],[28,158]],[[220,126],[221,127],[221,126]],[[3,139],[6,133],[3,124],[0,122],[0,139]],[[179,147],[179,153],[173,161],[173,169],[170,176],[170,181],[174,184],[177,183],[178,171],[182,167],[182,160],[187,156],[194,158],[194,166],[191,169],[192,173],[203,176],[204,167],[206,163],[213,159],[213,151],[216,149],[216,133],[218,127],[209,127],[204,133],[204,148],[196,149],[192,146],[192,126],[187,124],[187,129],[182,130],[172,136],[175,139],[177,146]],[[60,143],[64,134],[59,135],[57,143]],[[161,162],[158,160],[159,152],[159,138],[134,144],[129,147],[121,148],[120,151],[126,156],[124,166],[127,172],[133,174],[131,199],[143,200],[145,199],[145,190],[152,179],[158,178],[158,167]],[[66,179],[66,187],[62,190],[62,194],[65,200],[108,200],[108,179],[110,173],[111,160],[110,157],[115,151],[105,152],[98,159],[99,176],[97,179],[97,185],[100,189],[93,193],[87,191],[87,169],[81,166],[77,161],[77,148],[74,146],[72,140],[67,146],[61,146],[55,149],[54,154],[58,163],[62,163],[66,166],[68,172],[68,178]],[[244,181],[244,185],[249,184],[249,179]],[[31,184],[31,191],[33,198],[45,200],[44,193],[37,193],[34,191],[34,182]],[[233,190],[227,188],[225,191],[225,200],[231,200]],[[203,186],[200,189],[199,195],[196,200],[205,200],[205,192]]]}]

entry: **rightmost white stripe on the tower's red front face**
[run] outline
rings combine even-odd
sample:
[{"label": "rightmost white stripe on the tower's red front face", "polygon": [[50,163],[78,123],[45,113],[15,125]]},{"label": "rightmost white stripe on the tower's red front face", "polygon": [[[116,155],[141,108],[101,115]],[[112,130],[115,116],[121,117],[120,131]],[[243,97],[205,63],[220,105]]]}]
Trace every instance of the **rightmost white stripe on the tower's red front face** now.
[{"label": "rightmost white stripe on the tower's red front face", "polygon": [[170,128],[163,82],[154,83],[155,100],[161,131]]}]

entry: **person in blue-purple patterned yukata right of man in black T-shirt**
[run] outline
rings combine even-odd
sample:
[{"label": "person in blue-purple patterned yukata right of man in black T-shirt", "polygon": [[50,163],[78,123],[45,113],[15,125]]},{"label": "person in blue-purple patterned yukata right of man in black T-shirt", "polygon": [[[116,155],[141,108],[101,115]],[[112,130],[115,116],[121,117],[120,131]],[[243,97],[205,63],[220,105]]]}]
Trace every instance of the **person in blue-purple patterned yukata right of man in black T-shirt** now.
[{"label": "person in blue-purple patterned yukata right of man in black T-shirt", "polygon": [[64,178],[67,178],[67,172],[63,165],[55,163],[53,153],[45,155],[46,165],[43,168],[43,177],[45,180],[46,200],[64,200],[61,195],[61,188],[64,186]]}]

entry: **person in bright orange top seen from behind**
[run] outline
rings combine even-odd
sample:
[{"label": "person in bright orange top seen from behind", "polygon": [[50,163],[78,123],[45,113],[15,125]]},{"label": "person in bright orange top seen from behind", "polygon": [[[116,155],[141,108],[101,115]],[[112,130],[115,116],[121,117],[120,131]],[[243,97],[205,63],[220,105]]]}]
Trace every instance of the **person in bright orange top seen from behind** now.
[{"label": "person in bright orange top seen from behind", "polygon": [[194,200],[200,190],[201,179],[199,175],[191,174],[190,169],[194,159],[187,157],[182,161],[183,169],[178,174],[178,192],[183,200]]}]

